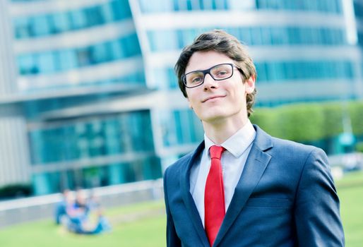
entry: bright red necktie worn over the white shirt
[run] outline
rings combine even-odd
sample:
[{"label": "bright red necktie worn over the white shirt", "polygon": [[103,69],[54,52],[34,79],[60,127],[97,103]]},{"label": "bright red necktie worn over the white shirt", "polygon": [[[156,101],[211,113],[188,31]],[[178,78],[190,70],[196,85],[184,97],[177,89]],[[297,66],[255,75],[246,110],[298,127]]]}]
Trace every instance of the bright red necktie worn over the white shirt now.
[{"label": "bright red necktie worn over the white shirt", "polygon": [[204,193],[204,224],[210,246],[213,246],[225,217],[225,187],[223,186],[222,166],[220,157],[224,147],[210,147],[210,170],[206,181]]}]

